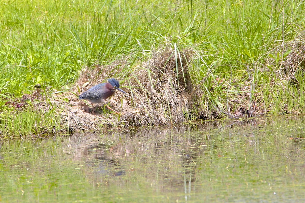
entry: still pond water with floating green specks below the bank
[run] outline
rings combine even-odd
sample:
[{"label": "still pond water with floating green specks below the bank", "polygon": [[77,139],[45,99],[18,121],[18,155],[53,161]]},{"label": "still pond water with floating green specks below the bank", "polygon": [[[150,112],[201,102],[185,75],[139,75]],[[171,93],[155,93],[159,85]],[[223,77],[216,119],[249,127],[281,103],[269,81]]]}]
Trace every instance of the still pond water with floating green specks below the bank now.
[{"label": "still pond water with floating green specks below the bank", "polygon": [[304,202],[304,137],[267,117],[5,140],[0,202]]}]

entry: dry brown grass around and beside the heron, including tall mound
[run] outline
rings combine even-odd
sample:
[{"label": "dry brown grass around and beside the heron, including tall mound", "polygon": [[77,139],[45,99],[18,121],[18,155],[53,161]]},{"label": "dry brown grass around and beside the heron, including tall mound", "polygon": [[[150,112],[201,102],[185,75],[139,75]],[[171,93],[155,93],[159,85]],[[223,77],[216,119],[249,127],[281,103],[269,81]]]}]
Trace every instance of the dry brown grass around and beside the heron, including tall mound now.
[{"label": "dry brown grass around and beside the heron, including tall mound", "polygon": [[[116,77],[128,95],[117,92],[108,102],[116,110],[123,107],[120,117],[108,110],[97,110],[97,115],[91,115],[85,112],[84,101],[71,95],[70,107],[62,113],[67,118],[69,128],[79,130],[99,126],[113,128],[175,125],[189,121],[191,116],[202,116],[205,111],[200,107],[199,101],[202,91],[194,87],[188,73],[191,56],[192,52],[189,50],[175,52],[173,48],[166,46],[156,51],[148,61],[133,68],[128,79],[120,80]],[[93,69],[86,68],[74,91],[81,93],[96,84],[106,82],[121,73],[123,68],[122,62]]]}]

